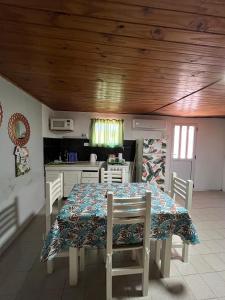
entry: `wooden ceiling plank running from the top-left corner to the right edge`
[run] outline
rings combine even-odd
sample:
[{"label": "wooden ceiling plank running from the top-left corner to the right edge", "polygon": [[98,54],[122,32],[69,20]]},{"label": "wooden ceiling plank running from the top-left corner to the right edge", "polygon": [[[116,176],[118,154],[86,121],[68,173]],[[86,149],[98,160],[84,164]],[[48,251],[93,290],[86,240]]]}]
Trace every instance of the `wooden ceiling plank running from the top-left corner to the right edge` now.
[{"label": "wooden ceiling plank running from the top-left corner to the right edge", "polygon": [[152,8],[150,6],[129,5],[109,1],[67,0],[55,1],[0,0],[0,3],[39,10],[48,10],[72,15],[95,17],[103,20],[116,20],[133,24],[187,29],[223,33],[225,19],[196,13],[181,12],[171,9]]}]

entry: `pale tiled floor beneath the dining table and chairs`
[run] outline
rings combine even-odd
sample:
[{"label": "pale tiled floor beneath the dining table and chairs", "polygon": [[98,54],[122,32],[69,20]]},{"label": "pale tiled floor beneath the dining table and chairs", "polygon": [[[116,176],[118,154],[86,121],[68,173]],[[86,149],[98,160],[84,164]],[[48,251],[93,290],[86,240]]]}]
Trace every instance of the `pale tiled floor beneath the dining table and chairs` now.
[{"label": "pale tiled floor beneath the dining table and chairs", "polygon": [[[117,277],[113,279],[114,299],[225,300],[225,193],[194,193],[191,215],[202,242],[191,246],[190,263],[182,263],[174,252],[168,279],[160,279],[151,263],[148,298],[141,297],[139,276]],[[52,275],[47,275],[45,264],[39,262],[42,232],[44,217],[40,215],[0,258],[0,299],[105,299],[102,253],[88,252],[85,272],[78,286],[71,288],[65,258],[57,259]]]}]

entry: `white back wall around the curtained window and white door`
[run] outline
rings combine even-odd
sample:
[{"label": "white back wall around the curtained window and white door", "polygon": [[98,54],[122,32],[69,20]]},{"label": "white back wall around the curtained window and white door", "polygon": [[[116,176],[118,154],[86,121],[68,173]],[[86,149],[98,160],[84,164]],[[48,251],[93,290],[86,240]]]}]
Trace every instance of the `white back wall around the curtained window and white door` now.
[{"label": "white back wall around the curtained window and white door", "polygon": [[[100,114],[89,112],[55,111],[55,117],[71,118],[74,120],[75,130],[71,133],[58,133],[56,137],[81,138],[82,134],[89,136],[90,119],[94,117],[115,117],[124,119],[125,139],[154,138],[162,136],[158,131],[140,131],[132,129],[132,120],[166,119],[168,138],[167,174],[166,185],[169,183],[172,128],[174,123],[195,124],[198,127],[196,162],[195,162],[195,190],[221,190],[225,188],[225,119],[217,118],[174,118],[157,116],[138,116],[128,114]],[[48,116],[45,115],[47,118]],[[45,122],[46,123],[46,122]],[[48,137],[46,131],[45,136]],[[50,137],[50,136],[49,136]],[[224,174],[224,179],[223,179]]]}]

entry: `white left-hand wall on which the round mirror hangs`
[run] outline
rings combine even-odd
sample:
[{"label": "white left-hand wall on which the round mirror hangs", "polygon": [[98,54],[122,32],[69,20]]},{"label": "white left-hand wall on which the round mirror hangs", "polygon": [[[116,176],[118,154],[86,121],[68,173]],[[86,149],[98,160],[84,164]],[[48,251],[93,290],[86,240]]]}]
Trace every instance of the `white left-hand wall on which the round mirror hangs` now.
[{"label": "white left-hand wall on which the round mirror hangs", "polygon": [[[42,106],[34,98],[0,78],[0,102],[3,123],[0,127],[0,211],[18,199],[18,222],[22,225],[44,204]],[[26,145],[30,153],[31,171],[15,177],[15,146],[8,136],[8,121],[15,113],[28,119],[31,136]],[[0,240],[0,247],[3,240]]]}]

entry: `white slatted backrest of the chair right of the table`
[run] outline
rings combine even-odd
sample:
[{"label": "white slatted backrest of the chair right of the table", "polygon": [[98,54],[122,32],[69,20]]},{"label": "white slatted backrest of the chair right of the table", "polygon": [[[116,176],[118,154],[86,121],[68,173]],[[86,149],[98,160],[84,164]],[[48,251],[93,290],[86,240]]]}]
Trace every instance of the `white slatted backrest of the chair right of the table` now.
[{"label": "white slatted backrest of the chair right of the table", "polygon": [[185,201],[185,208],[190,210],[192,206],[192,194],[193,181],[183,180],[173,172],[171,178],[171,197],[175,200],[176,195],[179,195]]}]

